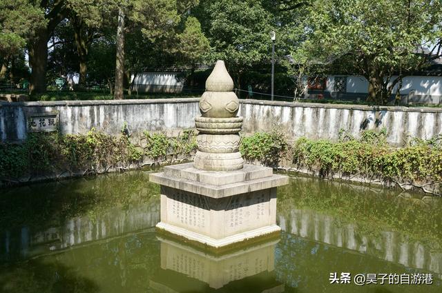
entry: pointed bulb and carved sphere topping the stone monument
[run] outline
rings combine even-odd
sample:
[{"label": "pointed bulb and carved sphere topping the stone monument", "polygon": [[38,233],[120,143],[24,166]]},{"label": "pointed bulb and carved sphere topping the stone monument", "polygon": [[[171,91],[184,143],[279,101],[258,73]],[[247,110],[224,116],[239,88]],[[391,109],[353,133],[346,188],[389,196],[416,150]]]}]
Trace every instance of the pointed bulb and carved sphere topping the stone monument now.
[{"label": "pointed bulb and carved sphere topping the stone monument", "polygon": [[206,80],[206,92],[200,100],[202,117],[236,117],[240,101],[233,90],[233,79],[227,72],[224,61],[216,61],[215,68]]}]

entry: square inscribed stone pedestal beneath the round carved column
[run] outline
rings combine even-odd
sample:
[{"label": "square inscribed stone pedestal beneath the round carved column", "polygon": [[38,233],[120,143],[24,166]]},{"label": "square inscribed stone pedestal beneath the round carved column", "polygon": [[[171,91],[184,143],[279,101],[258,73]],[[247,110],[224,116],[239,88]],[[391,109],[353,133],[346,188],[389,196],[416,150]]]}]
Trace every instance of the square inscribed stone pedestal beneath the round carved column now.
[{"label": "square inscribed stone pedestal beneath the round carved column", "polygon": [[186,163],[167,166],[150,179],[161,185],[157,228],[166,232],[218,248],[280,231],[276,187],[288,177],[271,168],[244,164],[217,172]]}]

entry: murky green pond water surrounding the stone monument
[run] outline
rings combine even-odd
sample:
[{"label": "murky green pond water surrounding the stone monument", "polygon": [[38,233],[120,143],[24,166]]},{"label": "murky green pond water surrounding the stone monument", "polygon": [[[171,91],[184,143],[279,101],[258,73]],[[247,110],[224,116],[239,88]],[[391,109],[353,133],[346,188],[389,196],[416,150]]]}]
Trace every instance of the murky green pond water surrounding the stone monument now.
[{"label": "murky green pond water surrounding the stone monument", "polygon": [[[278,189],[280,237],[213,255],[155,233],[148,172],[0,190],[0,292],[442,292],[441,208],[292,176]],[[350,284],[330,284],[335,272]],[[356,274],[377,284],[355,285]],[[432,285],[404,284],[430,274]]]}]

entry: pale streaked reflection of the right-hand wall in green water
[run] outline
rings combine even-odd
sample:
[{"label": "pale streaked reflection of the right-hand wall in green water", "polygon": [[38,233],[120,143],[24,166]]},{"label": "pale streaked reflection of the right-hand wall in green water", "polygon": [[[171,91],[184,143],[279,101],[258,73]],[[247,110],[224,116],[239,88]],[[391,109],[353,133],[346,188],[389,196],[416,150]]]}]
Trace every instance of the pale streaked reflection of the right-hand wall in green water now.
[{"label": "pale streaked reflection of the right-hand wall in green water", "polygon": [[343,223],[336,216],[315,210],[291,210],[279,215],[283,231],[302,238],[342,247],[418,269],[434,272],[442,279],[442,251],[419,241],[407,241],[400,232],[384,230],[378,235],[358,230],[354,223]]}]

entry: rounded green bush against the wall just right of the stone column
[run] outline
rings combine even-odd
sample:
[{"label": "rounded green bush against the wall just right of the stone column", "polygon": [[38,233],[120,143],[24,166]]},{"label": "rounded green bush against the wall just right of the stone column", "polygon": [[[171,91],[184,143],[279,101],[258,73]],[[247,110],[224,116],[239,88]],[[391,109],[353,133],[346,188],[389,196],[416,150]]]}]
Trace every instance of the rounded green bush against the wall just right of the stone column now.
[{"label": "rounded green bush against the wall just right of the stone column", "polygon": [[240,152],[248,161],[258,160],[265,165],[277,167],[282,156],[287,152],[288,143],[285,135],[278,130],[256,132],[251,137],[241,140]]}]

